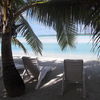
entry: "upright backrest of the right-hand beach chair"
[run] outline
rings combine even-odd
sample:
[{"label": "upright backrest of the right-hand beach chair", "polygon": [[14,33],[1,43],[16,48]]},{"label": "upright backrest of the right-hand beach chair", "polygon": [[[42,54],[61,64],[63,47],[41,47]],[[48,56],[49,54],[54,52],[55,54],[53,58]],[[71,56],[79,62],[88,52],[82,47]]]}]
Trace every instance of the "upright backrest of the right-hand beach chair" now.
[{"label": "upright backrest of the right-hand beach chair", "polygon": [[71,82],[82,82],[83,60],[64,60],[64,75]]}]

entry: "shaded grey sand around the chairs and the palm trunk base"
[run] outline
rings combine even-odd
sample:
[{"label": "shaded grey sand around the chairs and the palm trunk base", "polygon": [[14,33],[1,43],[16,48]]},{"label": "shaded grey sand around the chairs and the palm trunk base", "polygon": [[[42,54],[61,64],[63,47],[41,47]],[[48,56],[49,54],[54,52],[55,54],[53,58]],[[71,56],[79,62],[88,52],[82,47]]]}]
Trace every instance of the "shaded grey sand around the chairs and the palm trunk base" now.
[{"label": "shaded grey sand around the chairs and the palm trunk base", "polygon": [[[0,78],[0,100],[83,100],[82,92],[77,91],[75,88],[67,91],[64,96],[61,95],[63,59],[38,59],[40,66],[52,68],[52,71],[48,73],[46,79],[43,80],[40,89],[35,90],[35,82],[31,82],[26,84],[26,93],[23,96],[4,98],[4,86],[2,78]],[[16,58],[15,63],[23,66],[20,58]],[[86,100],[100,100],[100,62],[85,61],[84,70],[87,90]]]}]

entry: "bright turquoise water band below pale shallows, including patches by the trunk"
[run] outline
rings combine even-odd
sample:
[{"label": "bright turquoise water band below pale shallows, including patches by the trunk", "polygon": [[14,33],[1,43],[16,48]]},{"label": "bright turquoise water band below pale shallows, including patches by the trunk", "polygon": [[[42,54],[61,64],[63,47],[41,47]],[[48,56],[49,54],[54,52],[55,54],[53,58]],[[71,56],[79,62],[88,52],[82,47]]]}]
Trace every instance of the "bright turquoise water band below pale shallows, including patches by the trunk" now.
[{"label": "bright turquoise water band below pale shallows, including patches by the trunk", "polygon": [[[27,48],[28,53],[32,52],[30,46],[27,44],[24,44],[24,46]],[[79,43],[74,48],[67,48],[65,50],[61,50],[60,46],[57,43],[43,43],[43,53],[56,53],[56,54],[64,54],[64,53],[72,53],[72,54],[91,54],[93,53],[92,50],[92,44],[87,43]],[[23,52],[19,47],[12,46],[13,53],[19,53]],[[33,51],[34,53],[34,51]]]}]

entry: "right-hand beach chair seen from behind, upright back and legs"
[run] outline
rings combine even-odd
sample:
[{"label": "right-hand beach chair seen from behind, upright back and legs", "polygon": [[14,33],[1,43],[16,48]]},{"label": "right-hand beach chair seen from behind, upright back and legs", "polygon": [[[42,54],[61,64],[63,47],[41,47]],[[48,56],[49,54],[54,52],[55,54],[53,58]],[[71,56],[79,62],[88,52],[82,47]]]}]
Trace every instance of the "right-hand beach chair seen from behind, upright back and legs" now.
[{"label": "right-hand beach chair seen from behind, upright back and legs", "polygon": [[80,83],[82,85],[83,97],[85,97],[83,60],[69,60],[69,59],[64,60],[64,77],[63,77],[63,84],[62,84],[63,95],[65,92],[65,89],[67,89],[66,85],[70,83]]}]

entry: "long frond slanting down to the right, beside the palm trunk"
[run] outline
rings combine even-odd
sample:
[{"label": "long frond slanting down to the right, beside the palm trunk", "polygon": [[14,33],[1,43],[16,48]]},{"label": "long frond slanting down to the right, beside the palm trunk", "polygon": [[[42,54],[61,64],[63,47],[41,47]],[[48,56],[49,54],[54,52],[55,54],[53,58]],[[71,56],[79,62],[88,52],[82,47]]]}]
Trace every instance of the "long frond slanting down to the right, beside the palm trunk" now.
[{"label": "long frond slanting down to the right, beside the palm trunk", "polygon": [[28,44],[31,46],[33,51],[35,53],[42,52],[42,43],[38,39],[38,37],[33,32],[32,28],[30,27],[29,23],[25,20],[23,16],[19,17],[18,22],[20,24],[20,27],[17,29],[17,32],[20,33],[28,42]]}]

